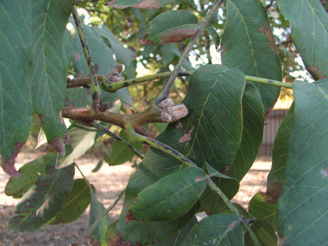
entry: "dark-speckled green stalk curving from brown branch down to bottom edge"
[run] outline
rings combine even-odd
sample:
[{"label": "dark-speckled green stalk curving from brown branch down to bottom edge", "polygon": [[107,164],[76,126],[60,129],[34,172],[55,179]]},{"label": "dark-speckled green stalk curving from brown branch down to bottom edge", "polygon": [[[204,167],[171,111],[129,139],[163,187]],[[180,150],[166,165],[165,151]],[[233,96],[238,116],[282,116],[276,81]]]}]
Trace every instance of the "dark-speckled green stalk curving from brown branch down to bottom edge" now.
[{"label": "dark-speckled green stalk curving from brown branch down to bottom edge", "polygon": [[[170,147],[166,144],[163,144],[150,137],[142,136],[142,135],[134,132],[134,129],[132,127],[126,127],[125,133],[133,142],[147,144],[158,150],[161,150],[161,151],[173,156],[174,158],[176,158],[177,160],[182,162],[187,167],[196,166],[196,164],[194,162],[189,160],[186,156],[179,153],[172,147]],[[229,211],[231,213],[233,213],[234,215],[238,216],[239,222],[241,223],[243,229],[247,232],[247,235],[250,237],[253,244],[255,246],[261,246],[257,237],[255,236],[254,232],[252,231],[251,227],[249,226],[247,220],[245,219],[244,216],[242,216],[240,211],[234,206],[234,204],[229,200],[229,198],[226,195],[224,195],[224,193],[216,186],[216,184],[211,180],[211,178],[208,175],[205,176],[205,180],[207,182],[207,186],[215,193],[215,195],[217,195],[222,200],[222,202],[229,209]]]}]

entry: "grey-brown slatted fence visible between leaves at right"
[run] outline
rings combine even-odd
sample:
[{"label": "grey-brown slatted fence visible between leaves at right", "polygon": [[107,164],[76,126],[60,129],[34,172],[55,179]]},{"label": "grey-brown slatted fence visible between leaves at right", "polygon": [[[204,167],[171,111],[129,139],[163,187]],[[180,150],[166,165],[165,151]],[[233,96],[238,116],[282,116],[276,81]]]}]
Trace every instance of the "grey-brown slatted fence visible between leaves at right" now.
[{"label": "grey-brown slatted fence visible between leaves at right", "polygon": [[274,109],[264,121],[263,139],[258,155],[272,156],[272,147],[278,128],[287,114],[288,109]]}]

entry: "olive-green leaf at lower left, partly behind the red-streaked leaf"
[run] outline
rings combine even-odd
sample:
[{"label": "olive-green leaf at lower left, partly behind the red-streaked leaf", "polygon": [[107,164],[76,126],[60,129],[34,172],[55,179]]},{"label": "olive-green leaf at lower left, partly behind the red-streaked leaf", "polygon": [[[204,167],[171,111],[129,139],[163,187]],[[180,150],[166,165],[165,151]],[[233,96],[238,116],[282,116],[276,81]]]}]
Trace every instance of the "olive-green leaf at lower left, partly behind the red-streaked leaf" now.
[{"label": "olive-green leaf at lower left, partly behind the red-streaked leaf", "polygon": [[83,178],[75,179],[73,188],[68,195],[62,209],[56,214],[52,225],[70,223],[84,213],[91,201],[88,183]]}]

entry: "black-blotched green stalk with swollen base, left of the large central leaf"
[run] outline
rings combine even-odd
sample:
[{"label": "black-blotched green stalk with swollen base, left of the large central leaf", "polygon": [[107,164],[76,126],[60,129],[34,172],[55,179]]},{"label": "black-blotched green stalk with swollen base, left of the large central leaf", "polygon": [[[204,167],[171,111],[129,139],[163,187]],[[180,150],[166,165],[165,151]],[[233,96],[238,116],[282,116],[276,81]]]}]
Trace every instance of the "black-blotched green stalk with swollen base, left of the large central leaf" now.
[{"label": "black-blotched green stalk with swollen base, left of the large central leaf", "polygon": [[[181,71],[178,73],[177,76],[191,76],[194,71]],[[135,85],[138,83],[155,80],[155,79],[161,79],[161,78],[168,78],[172,75],[172,72],[161,72],[161,73],[155,73],[152,75],[143,76],[140,78],[135,79],[129,79],[121,82],[110,82],[106,80],[105,82],[100,83],[101,88],[106,92],[117,92],[119,89],[122,89],[127,86]]]}]

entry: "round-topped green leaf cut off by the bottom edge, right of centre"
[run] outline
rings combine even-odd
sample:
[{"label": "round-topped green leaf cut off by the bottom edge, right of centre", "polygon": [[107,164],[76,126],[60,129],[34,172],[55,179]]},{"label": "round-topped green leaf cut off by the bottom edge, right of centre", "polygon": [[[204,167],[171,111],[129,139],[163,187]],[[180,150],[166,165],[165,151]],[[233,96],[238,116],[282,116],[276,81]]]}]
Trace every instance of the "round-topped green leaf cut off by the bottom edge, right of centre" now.
[{"label": "round-topped green leaf cut off by the bottom edge, right of centre", "polygon": [[203,218],[191,229],[181,246],[243,246],[243,229],[236,215],[215,214]]}]

